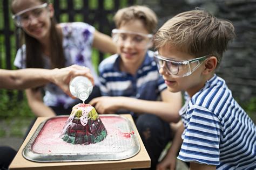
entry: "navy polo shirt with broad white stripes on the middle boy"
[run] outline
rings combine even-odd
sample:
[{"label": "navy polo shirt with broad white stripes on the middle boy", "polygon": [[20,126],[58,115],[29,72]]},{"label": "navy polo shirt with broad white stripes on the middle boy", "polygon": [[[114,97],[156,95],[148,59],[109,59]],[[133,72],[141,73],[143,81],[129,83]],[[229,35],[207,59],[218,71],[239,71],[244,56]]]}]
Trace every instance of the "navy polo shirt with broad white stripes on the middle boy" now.
[{"label": "navy polo shirt with broad white stripes on the middle boy", "polygon": [[100,91],[103,96],[127,96],[156,101],[160,92],[167,88],[158,72],[153,52],[147,51],[136,75],[120,70],[120,56],[114,54],[99,65]]}]

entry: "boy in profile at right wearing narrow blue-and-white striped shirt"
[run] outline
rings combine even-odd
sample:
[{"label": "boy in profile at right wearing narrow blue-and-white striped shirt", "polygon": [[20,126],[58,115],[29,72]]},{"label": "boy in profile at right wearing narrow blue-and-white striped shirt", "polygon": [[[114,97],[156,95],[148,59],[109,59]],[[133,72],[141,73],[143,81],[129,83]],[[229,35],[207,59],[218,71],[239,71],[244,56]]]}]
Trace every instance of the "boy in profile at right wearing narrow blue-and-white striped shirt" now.
[{"label": "boy in profile at right wearing narrow blue-and-white striped shirt", "polygon": [[177,132],[183,140],[173,139],[158,169],[173,168],[178,152],[190,169],[256,168],[255,125],[214,73],[233,38],[230,22],[203,10],[180,13],[157,31],[159,73],[167,89],[184,90],[187,97],[179,112],[184,126]]}]

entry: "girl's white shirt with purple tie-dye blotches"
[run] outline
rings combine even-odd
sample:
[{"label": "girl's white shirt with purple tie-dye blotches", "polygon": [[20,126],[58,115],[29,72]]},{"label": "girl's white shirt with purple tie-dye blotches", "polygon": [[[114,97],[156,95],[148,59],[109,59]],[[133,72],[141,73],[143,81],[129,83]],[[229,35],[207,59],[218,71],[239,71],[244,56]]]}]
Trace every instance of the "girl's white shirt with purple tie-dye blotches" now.
[{"label": "girl's white shirt with purple tie-dye blotches", "polygon": [[[66,59],[65,66],[71,66],[73,64],[86,66],[91,69],[93,77],[95,78],[95,84],[98,84],[98,76],[93,68],[91,54],[92,54],[92,42],[93,33],[95,28],[86,23],[61,23],[63,33],[63,49]],[[26,46],[22,46],[22,50],[19,49],[14,65],[18,68],[26,68]],[[50,60],[48,56],[44,56],[44,68],[50,69]],[[48,83],[44,87],[45,95],[43,98],[44,104],[53,107],[68,108],[77,103],[78,100],[74,100],[66,95],[59,87],[53,83]]]}]

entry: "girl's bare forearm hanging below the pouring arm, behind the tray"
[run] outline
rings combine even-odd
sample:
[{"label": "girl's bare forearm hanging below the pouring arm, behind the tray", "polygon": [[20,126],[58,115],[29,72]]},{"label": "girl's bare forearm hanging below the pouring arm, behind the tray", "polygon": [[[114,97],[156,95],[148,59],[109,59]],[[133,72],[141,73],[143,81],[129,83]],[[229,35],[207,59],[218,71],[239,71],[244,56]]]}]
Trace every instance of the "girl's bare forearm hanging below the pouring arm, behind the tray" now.
[{"label": "girl's bare forearm hanging below the pouring arm, behind the tray", "polygon": [[44,105],[40,90],[27,89],[26,97],[28,98],[28,103],[31,110],[35,113],[36,116],[56,116],[51,108]]}]

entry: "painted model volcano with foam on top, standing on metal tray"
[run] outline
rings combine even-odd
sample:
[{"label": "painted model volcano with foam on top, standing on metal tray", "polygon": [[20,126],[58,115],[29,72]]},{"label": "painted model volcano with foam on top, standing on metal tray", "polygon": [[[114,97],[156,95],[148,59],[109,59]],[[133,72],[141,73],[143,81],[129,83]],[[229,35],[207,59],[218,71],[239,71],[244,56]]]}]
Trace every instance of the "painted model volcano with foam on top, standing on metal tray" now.
[{"label": "painted model volcano with foam on top, standing on metal tray", "polygon": [[73,107],[60,137],[71,144],[94,144],[105,139],[106,128],[90,104]]}]

